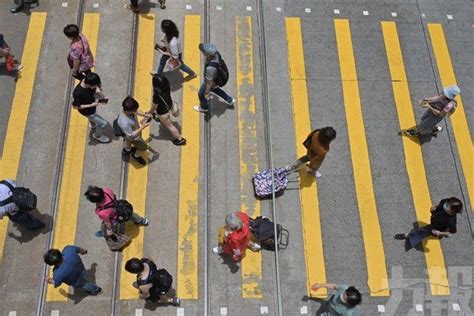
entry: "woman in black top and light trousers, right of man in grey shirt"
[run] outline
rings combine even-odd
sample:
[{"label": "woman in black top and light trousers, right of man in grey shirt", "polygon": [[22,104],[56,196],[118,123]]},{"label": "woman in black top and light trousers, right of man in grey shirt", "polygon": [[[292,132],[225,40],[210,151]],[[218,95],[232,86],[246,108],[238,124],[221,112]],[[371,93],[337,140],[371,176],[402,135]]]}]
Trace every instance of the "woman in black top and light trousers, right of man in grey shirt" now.
[{"label": "woman in black top and light trousers, right of man in grey shirt", "polygon": [[173,99],[171,99],[170,82],[163,75],[155,75],[153,76],[152,83],[153,103],[148,113],[152,114],[155,121],[161,122],[161,124],[170,131],[173,136],[174,145],[186,145],[186,139],[179,133],[176,126],[174,126],[173,121],[171,121],[174,103]]}]

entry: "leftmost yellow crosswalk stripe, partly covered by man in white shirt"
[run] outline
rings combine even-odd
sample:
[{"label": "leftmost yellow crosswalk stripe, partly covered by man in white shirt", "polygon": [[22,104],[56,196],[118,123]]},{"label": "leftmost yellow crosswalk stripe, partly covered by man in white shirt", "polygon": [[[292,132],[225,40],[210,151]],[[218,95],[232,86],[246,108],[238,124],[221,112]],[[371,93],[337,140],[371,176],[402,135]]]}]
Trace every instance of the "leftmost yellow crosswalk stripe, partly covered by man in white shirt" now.
[{"label": "leftmost yellow crosswalk stripe, partly covered by man in white shirt", "polygon": [[[18,78],[13,96],[7,133],[0,160],[0,177],[16,179],[20,164],[23,139],[25,137],[26,121],[30,112],[31,96],[36,76],[36,67],[43,41],[46,12],[32,13],[26,34],[25,47],[21,63],[25,67]],[[8,217],[0,221],[0,262],[3,259],[3,249],[7,236]]]}]

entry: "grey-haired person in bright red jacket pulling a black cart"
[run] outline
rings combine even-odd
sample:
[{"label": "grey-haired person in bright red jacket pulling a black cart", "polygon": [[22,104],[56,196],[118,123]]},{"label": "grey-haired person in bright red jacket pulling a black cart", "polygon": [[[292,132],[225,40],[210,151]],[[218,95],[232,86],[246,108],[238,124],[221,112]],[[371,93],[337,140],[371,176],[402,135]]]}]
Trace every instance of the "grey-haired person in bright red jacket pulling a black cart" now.
[{"label": "grey-haired person in bright red jacket pulling a black cart", "polygon": [[250,217],[244,212],[233,212],[226,216],[225,226],[219,231],[219,245],[212,249],[215,254],[226,254],[239,262],[250,246],[252,251],[260,250],[260,245],[251,240]]}]

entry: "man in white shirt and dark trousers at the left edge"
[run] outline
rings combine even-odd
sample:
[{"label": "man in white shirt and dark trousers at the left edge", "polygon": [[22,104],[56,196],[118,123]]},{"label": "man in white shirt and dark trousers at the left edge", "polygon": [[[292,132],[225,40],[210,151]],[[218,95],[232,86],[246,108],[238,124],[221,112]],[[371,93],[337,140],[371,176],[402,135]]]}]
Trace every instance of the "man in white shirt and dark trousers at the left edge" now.
[{"label": "man in white shirt and dark trousers at the left edge", "polygon": [[[12,187],[16,187],[15,181],[5,179]],[[0,183],[0,219],[8,216],[10,220],[26,229],[41,229],[45,224],[30,214],[30,210],[20,209],[15,203],[8,202],[12,196],[12,191],[8,185]]]}]

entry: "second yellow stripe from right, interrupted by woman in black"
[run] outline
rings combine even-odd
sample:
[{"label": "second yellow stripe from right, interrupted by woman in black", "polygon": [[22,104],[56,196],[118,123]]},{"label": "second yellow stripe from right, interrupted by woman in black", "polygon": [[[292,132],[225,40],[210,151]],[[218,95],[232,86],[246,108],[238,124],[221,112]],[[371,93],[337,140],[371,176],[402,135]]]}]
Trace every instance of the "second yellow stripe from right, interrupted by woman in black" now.
[{"label": "second yellow stripe from right, interrupted by woman in black", "polygon": [[[393,95],[398,113],[400,129],[415,125],[415,115],[411,103],[410,90],[405,73],[403,55],[395,22],[381,22],[388,65],[392,77]],[[426,180],[421,146],[416,138],[402,137],[405,164],[410,181],[416,217],[419,223],[429,224],[431,197]],[[448,276],[443,251],[438,239],[428,238],[424,244],[428,277],[433,295],[449,295]],[[441,285],[441,286],[438,286]]]}]

